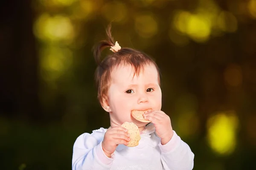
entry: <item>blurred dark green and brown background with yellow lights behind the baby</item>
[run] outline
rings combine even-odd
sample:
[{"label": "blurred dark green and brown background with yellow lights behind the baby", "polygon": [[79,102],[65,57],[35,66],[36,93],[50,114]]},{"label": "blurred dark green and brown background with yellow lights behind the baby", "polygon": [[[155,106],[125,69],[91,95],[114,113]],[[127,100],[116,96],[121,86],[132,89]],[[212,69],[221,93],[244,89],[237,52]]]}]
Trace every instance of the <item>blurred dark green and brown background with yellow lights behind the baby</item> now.
[{"label": "blurred dark green and brown background with yellow lights behind the baby", "polygon": [[109,126],[92,47],[111,21],[122,47],[159,65],[162,110],[195,153],[194,170],[256,169],[256,0],[6,0],[0,9],[0,170],[70,170],[76,138]]}]

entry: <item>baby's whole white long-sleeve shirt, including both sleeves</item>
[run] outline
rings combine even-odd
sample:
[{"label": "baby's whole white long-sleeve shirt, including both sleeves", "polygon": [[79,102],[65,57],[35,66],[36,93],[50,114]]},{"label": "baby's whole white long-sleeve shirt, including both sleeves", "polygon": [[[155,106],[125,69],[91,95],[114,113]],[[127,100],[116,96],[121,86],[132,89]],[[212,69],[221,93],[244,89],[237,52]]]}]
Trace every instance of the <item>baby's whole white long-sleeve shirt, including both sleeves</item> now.
[{"label": "baby's whole white long-sleeve shirt, including both sleeves", "polygon": [[72,170],[192,170],[194,154],[174,131],[172,139],[162,145],[153,124],[140,133],[136,147],[119,144],[111,158],[102,150],[107,129],[83,133],[73,147]]}]

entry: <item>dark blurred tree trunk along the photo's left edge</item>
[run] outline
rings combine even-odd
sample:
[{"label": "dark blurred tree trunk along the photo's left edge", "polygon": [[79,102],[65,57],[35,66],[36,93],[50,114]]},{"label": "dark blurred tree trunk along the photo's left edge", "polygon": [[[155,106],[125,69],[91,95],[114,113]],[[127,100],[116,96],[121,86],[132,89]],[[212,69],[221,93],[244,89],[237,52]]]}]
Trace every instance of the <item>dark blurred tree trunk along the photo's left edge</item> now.
[{"label": "dark blurred tree trunk along the photo's left edge", "polygon": [[2,2],[0,17],[0,113],[38,119],[38,56],[31,0]]}]

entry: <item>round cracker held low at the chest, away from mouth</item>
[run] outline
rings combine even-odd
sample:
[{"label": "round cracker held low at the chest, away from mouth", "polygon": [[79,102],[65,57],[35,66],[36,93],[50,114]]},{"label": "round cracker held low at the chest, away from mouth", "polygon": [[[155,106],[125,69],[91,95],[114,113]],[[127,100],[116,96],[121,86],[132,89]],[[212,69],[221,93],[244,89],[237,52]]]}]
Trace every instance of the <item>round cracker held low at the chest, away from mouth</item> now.
[{"label": "round cracker held low at the chest, away from mouth", "polygon": [[137,127],[137,125],[135,125],[132,122],[124,122],[121,126],[125,127],[128,130],[128,133],[130,133],[131,140],[129,141],[127,146],[128,147],[137,146],[141,139],[139,127]]}]

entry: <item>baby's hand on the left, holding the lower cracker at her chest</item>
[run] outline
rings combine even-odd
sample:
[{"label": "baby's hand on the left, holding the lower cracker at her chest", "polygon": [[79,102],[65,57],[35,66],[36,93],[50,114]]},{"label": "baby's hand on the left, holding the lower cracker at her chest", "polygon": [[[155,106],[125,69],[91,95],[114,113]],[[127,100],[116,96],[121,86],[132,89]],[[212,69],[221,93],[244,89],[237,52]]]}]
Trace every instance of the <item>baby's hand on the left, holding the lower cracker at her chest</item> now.
[{"label": "baby's hand on the left, holding the lower cracker at her chest", "polygon": [[102,149],[106,156],[110,158],[119,144],[128,145],[128,142],[131,140],[129,137],[130,134],[127,132],[127,129],[122,126],[116,126],[107,130],[102,141]]}]

